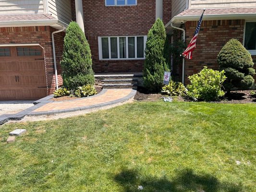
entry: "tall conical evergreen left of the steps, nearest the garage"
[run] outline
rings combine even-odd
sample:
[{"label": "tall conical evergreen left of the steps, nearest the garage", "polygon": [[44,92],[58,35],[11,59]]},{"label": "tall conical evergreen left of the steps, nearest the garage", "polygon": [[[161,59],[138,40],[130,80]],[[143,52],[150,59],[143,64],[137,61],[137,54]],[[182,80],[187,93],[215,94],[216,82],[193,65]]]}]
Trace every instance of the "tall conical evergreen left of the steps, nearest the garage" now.
[{"label": "tall conical evergreen left of the steps, nearest the garage", "polygon": [[64,38],[61,60],[63,85],[75,90],[84,84],[94,84],[91,50],[79,25],[71,22]]}]

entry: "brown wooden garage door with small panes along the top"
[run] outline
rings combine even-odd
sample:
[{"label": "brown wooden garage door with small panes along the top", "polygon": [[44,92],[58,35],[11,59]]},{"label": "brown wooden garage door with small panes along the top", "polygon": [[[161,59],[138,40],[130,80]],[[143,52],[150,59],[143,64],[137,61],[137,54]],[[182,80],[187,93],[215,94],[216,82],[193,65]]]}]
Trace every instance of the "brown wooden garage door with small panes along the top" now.
[{"label": "brown wooden garage door with small panes along the top", "polygon": [[47,96],[43,50],[40,47],[0,47],[0,100]]}]

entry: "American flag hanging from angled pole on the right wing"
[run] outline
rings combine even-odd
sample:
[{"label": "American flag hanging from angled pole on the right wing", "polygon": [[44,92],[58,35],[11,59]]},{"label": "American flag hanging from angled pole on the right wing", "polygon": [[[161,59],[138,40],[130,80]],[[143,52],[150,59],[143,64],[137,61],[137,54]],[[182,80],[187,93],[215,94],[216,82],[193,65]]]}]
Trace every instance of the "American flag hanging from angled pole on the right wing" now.
[{"label": "American flag hanging from angled pole on the right wing", "polygon": [[189,59],[189,60],[192,59],[192,52],[195,50],[195,43],[196,43],[196,39],[197,39],[199,30],[200,30],[200,27],[201,27],[201,23],[202,23],[202,19],[203,19],[203,16],[204,16],[204,12],[205,12],[205,10],[203,11],[203,13],[202,13],[202,15],[200,17],[200,20],[198,21],[198,24],[197,24],[197,27],[196,27],[196,30],[195,30],[193,38],[191,39],[190,43],[188,44],[188,47],[186,48],[186,50],[182,53],[182,55],[185,58]]}]

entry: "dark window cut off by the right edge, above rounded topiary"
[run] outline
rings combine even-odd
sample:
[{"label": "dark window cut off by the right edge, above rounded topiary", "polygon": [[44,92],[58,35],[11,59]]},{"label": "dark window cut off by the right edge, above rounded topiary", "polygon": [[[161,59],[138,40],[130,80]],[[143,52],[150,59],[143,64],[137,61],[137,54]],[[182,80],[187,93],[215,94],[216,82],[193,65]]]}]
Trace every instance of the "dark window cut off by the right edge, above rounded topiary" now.
[{"label": "dark window cut off by the right edge, above rounded topiary", "polygon": [[252,55],[256,55],[256,22],[246,22],[245,24],[244,47]]}]

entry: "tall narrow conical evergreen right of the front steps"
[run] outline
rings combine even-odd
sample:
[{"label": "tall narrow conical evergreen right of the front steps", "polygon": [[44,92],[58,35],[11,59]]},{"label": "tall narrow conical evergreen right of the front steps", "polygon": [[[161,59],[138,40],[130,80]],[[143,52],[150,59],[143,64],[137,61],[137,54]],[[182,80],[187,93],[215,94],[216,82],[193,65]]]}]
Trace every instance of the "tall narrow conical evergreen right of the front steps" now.
[{"label": "tall narrow conical evergreen right of the front steps", "polygon": [[150,92],[159,92],[163,85],[164,72],[168,71],[164,59],[165,27],[159,18],[147,34],[146,60],[144,62],[144,86]]}]

